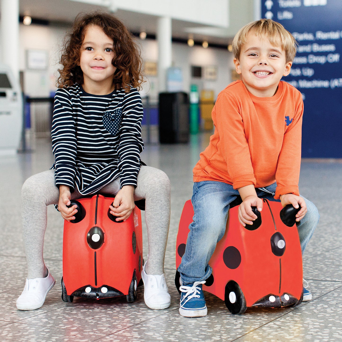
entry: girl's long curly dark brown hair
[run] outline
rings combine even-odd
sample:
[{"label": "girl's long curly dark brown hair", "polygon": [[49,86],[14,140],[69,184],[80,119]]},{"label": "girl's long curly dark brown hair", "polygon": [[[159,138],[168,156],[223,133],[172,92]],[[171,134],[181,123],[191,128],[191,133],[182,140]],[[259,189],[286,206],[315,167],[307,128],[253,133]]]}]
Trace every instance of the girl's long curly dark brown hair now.
[{"label": "girl's long curly dark brown hair", "polygon": [[140,49],[122,22],[104,12],[77,15],[73,27],[65,36],[60,59],[63,67],[58,69],[60,76],[57,79],[57,87],[65,88],[74,83],[83,84],[83,72],[78,64],[85,30],[89,25],[101,27],[103,32],[114,41],[115,56],[111,63],[117,68],[113,80],[115,89],[123,88],[125,92],[129,92],[132,86],[139,90],[141,83],[144,82]]}]

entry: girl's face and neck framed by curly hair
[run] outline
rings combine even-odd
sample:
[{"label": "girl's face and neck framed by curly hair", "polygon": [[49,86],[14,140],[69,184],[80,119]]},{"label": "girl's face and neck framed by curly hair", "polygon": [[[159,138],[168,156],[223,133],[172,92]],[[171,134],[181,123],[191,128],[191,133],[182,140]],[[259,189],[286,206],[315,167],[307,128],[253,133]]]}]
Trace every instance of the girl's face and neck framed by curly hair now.
[{"label": "girl's face and neck framed by curly hair", "polygon": [[114,57],[113,44],[113,39],[101,27],[89,25],[85,29],[78,65],[83,71],[82,86],[86,92],[106,95],[114,90],[113,75],[116,67],[111,64]]}]

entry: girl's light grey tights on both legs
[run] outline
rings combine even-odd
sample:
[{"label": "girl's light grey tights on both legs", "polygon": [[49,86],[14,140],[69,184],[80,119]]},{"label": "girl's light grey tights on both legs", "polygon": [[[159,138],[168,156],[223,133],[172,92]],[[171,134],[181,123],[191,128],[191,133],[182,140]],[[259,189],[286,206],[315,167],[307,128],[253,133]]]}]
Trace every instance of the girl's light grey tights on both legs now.
[{"label": "girl's light grey tights on both legs", "polygon": [[[120,180],[103,187],[102,194],[116,195]],[[43,260],[44,235],[47,227],[47,206],[58,204],[59,189],[55,186],[54,170],[29,177],[22,187],[22,225],[28,279],[43,278],[47,270]],[[75,189],[71,199],[82,195]],[[170,224],[170,181],[161,170],[141,166],[134,191],[134,200],[145,198],[145,221],[148,237],[147,273],[164,273],[164,258]]]}]

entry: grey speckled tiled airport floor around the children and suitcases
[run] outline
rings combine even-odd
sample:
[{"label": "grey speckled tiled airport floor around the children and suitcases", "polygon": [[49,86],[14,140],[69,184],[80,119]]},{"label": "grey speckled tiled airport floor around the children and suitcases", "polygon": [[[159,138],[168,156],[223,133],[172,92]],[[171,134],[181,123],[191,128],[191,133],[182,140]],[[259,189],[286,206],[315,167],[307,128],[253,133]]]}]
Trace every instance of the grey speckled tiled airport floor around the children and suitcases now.
[{"label": "grey speckled tiled airport floor around the children and suitcases", "polygon": [[[248,309],[230,314],[222,300],[206,293],[208,315],[181,317],[174,286],[175,243],[184,202],[192,194],[192,168],[209,141],[209,134],[191,137],[188,144],[151,143],[143,161],[165,171],[171,180],[171,225],[165,269],[171,293],[167,310],[153,311],[143,300],[125,298],[61,300],[63,220],[48,211],[44,258],[56,285],[44,305],[18,311],[15,301],[26,277],[21,235],[20,189],[31,174],[47,170],[53,162],[49,140],[33,140],[34,152],[0,156],[0,341],[341,341],[342,340],[342,163],[302,162],[301,193],[313,201],[321,219],[304,255],[304,277],[313,294],[311,302],[285,309]],[[144,230],[144,257],[147,238]]]}]

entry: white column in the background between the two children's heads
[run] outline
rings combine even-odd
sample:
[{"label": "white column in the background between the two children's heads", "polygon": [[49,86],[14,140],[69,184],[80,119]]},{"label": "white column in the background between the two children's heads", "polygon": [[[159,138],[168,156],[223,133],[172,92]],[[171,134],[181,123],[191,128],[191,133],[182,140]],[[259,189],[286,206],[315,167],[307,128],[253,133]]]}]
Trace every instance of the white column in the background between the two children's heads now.
[{"label": "white column in the background between the two children's heads", "polygon": [[158,18],[158,88],[166,91],[166,71],[172,64],[172,24],[170,17]]}]

